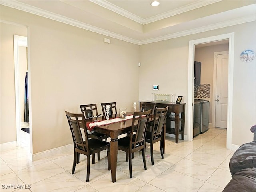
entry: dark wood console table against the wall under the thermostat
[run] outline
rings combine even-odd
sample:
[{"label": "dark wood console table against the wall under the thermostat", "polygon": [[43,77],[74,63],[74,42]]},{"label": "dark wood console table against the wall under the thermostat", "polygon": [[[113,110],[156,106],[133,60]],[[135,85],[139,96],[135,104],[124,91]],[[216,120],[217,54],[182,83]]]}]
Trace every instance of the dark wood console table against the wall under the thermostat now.
[{"label": "dark wood console table against the wall under the thermostat", "polygon": [[[178,143],[179,141],[179,134],[181,134],[181,140],[184,140],[186,103],[176,104],[171,102],[139,101],[140,105],[141,105],[141,102],[156,103],[156,107],[158,108],[164,108],[169,106],[168,112],[166,115],[166,123],[164,125],[164,132],[163,132],[164,140],[165,140],[166,133],[174,134],[176,143]],[[175,118],[170,117],[171,113],[175,113]],[[181,113],[181,117],[180,117],[180,113]],[[175,122],[175,128],[171,128],[171,121]],[[180,124],[181,124],[181,129],[179,129]],[[163,148],[165,148],[165,142],[163,143]]]}]

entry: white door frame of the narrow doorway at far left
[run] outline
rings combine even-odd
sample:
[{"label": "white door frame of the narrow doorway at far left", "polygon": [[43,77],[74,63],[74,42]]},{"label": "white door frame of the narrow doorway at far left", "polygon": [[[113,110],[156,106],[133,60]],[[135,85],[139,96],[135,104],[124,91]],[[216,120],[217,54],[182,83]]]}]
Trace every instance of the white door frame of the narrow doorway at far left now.
[{"label": "white door frame of the narrow doorway at far left", "polygon": [[13,35],[14,46],[14,83],[15,83],[15,109],[16,109],[16,141],[20,146],[20,64],[19,64],[19,46],[28,47],[28,40],[25,36]]}]

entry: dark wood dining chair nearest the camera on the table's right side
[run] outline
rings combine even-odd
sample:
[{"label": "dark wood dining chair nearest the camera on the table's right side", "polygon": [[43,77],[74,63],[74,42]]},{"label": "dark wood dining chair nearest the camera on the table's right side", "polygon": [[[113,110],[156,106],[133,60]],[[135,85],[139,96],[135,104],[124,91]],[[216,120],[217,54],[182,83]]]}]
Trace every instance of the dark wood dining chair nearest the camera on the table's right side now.
[{"label": "dark wood dining chair nearest the camera on the table's right side", "polygon": [[[126,161],[129,160],[130,178],[132,178],[132,153],[142,150],[144,169],[147,169],[145,158],[145,135],[151,110],[134,112],[130,134],[118,139],[118,149],[126,152]],[[136,132],[134,130],[136,129]]]}]

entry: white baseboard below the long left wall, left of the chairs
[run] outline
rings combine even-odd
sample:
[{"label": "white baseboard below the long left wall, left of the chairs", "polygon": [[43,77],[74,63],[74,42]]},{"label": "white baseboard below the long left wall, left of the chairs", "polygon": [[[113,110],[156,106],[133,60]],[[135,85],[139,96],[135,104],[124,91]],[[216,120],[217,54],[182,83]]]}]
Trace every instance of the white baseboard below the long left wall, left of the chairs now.
[{"label": "white baseboard below the long left wall, left of the chairs", "polygon": [[61,146],[61,147],[57,147],[57,148],[49,149],[49,150],[42,151],[42,152],[39,152],[39,153],[35,153],[35,154],[32,154],[32,161],[39,160],[39,159],[46,158],[46,157],[50,157],[50,156],[53,156],[53,155],[56,155],[56,154],[59,154],[59,153],[70,151],[72,149],[74,149],[74,145],[73,144],[68,144],[68,145],[64,145],[64,146]]}]

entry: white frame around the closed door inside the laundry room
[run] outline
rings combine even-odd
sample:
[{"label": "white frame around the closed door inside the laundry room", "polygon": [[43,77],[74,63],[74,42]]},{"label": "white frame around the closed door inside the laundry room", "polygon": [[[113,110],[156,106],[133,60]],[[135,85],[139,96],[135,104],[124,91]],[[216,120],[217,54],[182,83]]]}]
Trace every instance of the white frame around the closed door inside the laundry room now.
[{"label": "white frame around the closed door inside the laundry room", "polygon": [[[215,127],[215,112],[216,112],[216,80],[217,80],[217,56],[228,54],[228,51],[214,52],[213,62],[213,83],[212,83],[212,126]],[[229,58],[228,58],[229,59]]]}]

